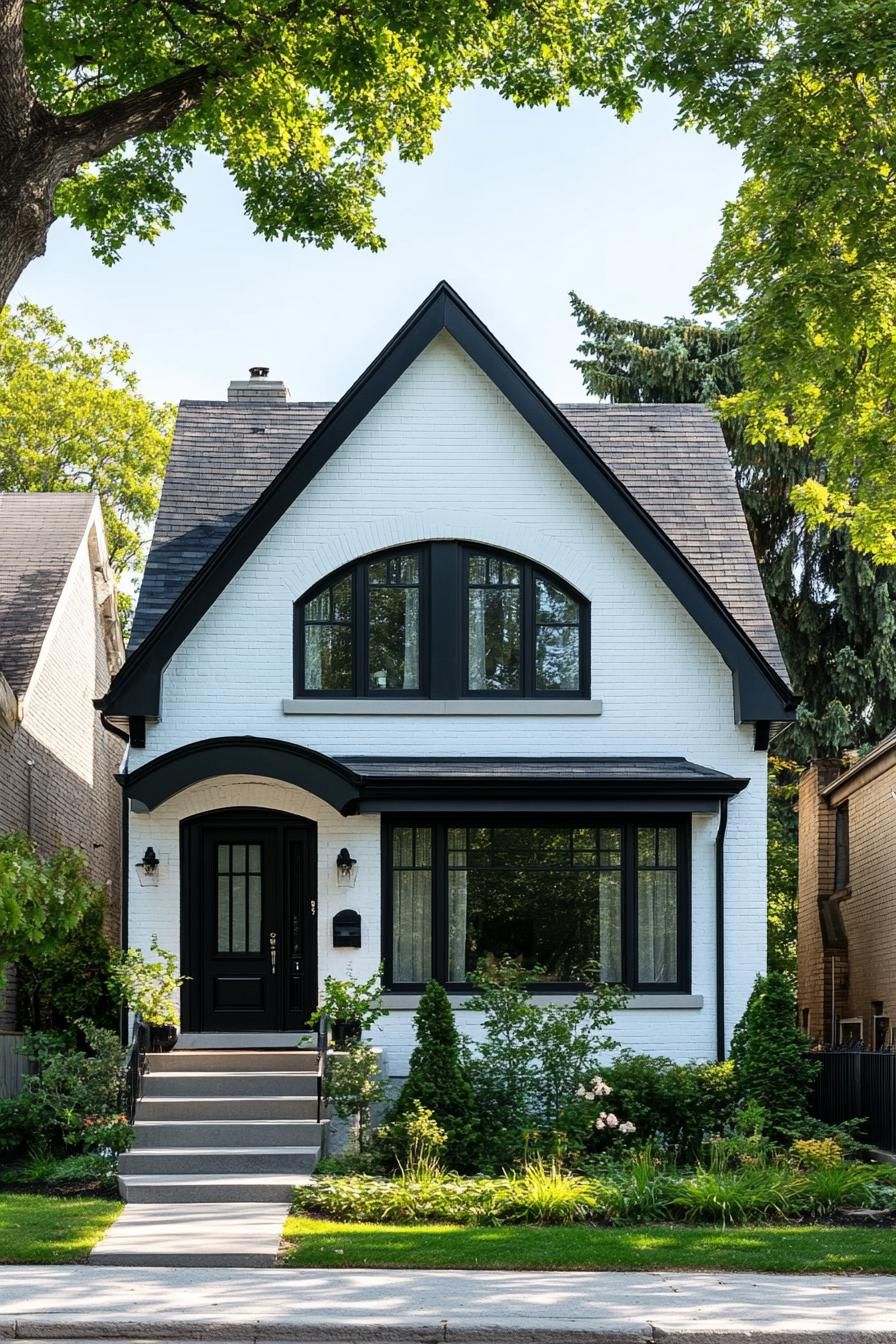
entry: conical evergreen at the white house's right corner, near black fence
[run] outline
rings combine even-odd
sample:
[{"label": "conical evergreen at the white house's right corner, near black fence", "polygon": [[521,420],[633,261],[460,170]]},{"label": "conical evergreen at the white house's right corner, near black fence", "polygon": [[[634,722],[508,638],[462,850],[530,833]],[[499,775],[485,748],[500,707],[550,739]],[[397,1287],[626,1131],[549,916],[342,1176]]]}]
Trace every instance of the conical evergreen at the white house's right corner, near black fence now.
[{"label": "conical evergreen at the white house's right corner, near black fence", "polygon": [[797,1027],[793,989],[785,976],[758,976],[733,1030],[731,1059],[744,1101],[759,1102],[766,1133],[776,1142],[805,1138],[811,1126],[809,1094],[818,1063]]}]

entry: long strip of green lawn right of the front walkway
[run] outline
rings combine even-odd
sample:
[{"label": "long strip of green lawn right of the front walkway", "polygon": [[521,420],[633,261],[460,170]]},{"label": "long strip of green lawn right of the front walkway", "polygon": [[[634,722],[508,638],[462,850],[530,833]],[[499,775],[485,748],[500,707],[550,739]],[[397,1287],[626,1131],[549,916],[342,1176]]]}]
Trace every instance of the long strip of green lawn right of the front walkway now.
[{"label": "long strip of green lawn right of the front walkway", "polygon": [[294,1269],[729,1269],[896,1273],[896,1235],[866,1227],[457,1227],[290,1218]]}]

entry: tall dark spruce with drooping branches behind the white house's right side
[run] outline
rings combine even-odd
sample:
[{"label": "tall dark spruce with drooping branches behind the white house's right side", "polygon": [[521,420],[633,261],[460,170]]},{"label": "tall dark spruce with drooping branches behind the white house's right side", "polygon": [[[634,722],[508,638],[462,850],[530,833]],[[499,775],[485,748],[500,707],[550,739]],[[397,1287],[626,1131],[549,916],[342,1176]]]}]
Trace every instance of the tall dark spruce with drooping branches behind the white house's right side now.
[{"label": "tall dark spruce with drooping branches behind the white house's right side", "polygon": [[[574,366],[595,396],[614,402],[713,402],[742,390],[739,329],[674,317],[625,321],[576,294],[582,332]],[[896,727],[896,570],[875,567],[844,532],[809,531],[790,503],[794,485],[825,478],[807,450],[747,442],[739,421],[723,433],[740,489],[799,718],[797,762],[879,742]]]}]

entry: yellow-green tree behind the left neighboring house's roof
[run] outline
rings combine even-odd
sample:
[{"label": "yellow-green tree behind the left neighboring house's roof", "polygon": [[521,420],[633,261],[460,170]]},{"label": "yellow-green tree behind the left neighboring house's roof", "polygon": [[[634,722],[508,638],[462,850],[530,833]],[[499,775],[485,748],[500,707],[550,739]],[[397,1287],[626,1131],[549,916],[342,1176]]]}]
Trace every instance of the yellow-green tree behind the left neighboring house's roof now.
[{"label": "yellow-green tree behind the left neighboring house's roof", "polygon": [[0,310],[0,491],[95,492],[117,577],[140,564],[172,429],[126,345],[78,340],[48,308]]}]

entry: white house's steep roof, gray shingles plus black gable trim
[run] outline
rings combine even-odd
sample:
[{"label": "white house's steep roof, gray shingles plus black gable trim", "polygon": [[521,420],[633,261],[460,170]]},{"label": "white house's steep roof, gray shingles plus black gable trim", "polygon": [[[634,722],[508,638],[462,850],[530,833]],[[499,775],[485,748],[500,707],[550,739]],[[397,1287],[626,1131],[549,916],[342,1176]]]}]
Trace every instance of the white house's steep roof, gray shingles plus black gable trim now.
[{"label": "white house's steep roof, gray shingles plus black gable trim", "polygon": [[555,406],[445,282],[332,406],[181,403],[130,655],[103,708],[159,712],[161,672],[175,649],[442,331],[506,395],[712,640],[735,673],[737,716],[793,716],[794,698],[712,417],[681,405]]}]

